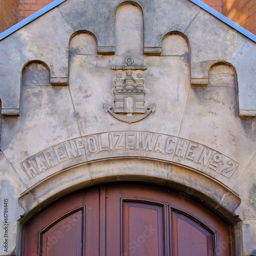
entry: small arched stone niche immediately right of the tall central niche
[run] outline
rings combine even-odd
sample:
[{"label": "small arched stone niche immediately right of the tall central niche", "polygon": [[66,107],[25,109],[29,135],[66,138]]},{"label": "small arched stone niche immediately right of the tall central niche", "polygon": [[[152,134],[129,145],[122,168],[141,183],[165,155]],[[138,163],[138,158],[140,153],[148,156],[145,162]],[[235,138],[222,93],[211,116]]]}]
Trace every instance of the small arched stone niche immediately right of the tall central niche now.
[{"label": "small arched stone niche immediately right of the tall central niche", "polygon": [[187,55],[189,57],[189,41],[185,34],[172,31],[162,38],[162,55]]}]

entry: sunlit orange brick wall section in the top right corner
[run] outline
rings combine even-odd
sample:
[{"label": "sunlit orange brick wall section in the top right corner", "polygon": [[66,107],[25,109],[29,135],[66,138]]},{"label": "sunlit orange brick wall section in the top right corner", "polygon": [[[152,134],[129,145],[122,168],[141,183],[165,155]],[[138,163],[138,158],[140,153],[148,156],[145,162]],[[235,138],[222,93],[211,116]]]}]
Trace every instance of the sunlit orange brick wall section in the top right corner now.
[{"label": "sunlit orange brick wall section in the top right corner", "polygon": [[256,35],[256,0],[223,0],[223,15]]}]

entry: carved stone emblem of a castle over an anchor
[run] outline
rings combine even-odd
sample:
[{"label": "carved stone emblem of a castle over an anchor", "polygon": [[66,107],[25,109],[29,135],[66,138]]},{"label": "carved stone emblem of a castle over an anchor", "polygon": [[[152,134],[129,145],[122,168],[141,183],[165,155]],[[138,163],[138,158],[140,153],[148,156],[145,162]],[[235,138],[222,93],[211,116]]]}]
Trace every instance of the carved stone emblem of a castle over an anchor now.
[{"label": "carved stone emblem of a castle over an anchor", "polygon": [[[120,121],[133,123],[142,120],[151,112],[156,111],[156,104],[151,104],[144,108],[144,79],[142,75],[137,74],[135,79],[132,75],[132,70],[146,70],[146,66],[132,65],[133,58],[128,56],[125,58],[127,66],[113,66],[113,70],[126,70],[125,78],[118,73],[115,79],[116,90],[115,95],[115,109],[109,104],[103,104],[105,113],[109,112],[112,116]],[[113,110],[112,110],[113,109]]]}]

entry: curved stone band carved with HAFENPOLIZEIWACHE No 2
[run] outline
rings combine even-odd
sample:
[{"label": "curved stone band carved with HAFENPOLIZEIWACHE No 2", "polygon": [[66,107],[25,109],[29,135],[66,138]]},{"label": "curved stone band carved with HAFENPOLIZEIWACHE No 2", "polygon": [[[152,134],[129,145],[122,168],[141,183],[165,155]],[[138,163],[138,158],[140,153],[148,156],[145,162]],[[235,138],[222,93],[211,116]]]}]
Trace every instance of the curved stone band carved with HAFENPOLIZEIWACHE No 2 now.
[{"label": "curved stone band carved with HAFENPOLIZEIWACHE No 2", "polygon": [[37,153],[20,165],[31,179],[74,159],[82,158],[81,162],[90,162],[136,157],[173,162],[207,174],[214,172],[227,179],[238,167],[237,162],[202,144],[175,136],[138,131],[93,134],[65,141]]}]

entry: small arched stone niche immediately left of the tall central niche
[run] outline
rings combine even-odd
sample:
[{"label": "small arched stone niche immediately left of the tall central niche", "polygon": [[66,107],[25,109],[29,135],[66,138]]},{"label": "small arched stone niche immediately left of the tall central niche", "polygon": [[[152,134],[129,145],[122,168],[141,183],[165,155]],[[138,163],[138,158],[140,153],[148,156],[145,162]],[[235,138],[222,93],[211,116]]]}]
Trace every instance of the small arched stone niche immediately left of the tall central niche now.
[{"label": "small arched stone niche immediately left of the tall central niche", "polygon": [[86,30],[76,31],[69,41],[69,54],[96,55],[97,54],[97,38]]}]

